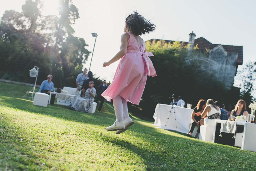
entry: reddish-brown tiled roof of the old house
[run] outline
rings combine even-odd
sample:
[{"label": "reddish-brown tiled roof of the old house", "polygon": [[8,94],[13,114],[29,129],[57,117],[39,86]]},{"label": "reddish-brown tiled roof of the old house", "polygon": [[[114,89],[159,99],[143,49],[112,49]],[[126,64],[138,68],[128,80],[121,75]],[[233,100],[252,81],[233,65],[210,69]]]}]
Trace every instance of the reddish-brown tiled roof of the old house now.
[{"label": "reddish-brown tiled roof of the old house", "polygon": [[[148,40],[148,41],[152,41]],[[155,39],[156,41],[160,40],[160,39]],[[173,40],[164,40],[165,42],[170,42],[173,43]],[[188,42],[184,41],[180,41],[180,43],[183,43],[184,45],[187,45]],[[203,37],[199,37],[197,39],[195,39],[195,43],[194,46],[198,46],[198,49],[200,50],[205,50],[205,49],[213,49],[216,46],[218,46],[219,44],[212,44],[211,42],[209,42],[208,40],[206,40]],[[242,65],[243,64],[243,46],[232,46],[232,45],[221,45],[227,52],[233,52],[233,53],[238,53],[238,58],[237,58],[237,64],[238,65]]]}]

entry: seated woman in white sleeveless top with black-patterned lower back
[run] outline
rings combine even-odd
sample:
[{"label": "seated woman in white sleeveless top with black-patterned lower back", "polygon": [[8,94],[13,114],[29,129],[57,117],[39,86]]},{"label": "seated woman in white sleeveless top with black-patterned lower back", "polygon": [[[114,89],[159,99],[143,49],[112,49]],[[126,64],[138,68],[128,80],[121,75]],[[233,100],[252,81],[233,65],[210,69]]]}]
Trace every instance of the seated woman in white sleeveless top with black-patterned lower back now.
[{"label": "seated woman in white sleeveless top with black-patterned lower back", "polygon": [[206,107],[201,114],[200,125],[208,125],[214,127],[215,120],[220,120],[220,108],[217,106],[212,99],[206,101]]}]

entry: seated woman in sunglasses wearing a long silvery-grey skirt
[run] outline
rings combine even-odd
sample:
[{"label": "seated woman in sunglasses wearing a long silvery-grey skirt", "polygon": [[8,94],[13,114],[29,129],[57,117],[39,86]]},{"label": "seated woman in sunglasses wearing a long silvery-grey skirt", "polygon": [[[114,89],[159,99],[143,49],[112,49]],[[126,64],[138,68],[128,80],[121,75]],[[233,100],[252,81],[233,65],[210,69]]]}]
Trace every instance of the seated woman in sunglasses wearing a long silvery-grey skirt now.
[{"label": "seated woman in sunglasses wearing a long silvery-grey skirt", "polygon": [[69,107],[70,110],[76,110],[79,112],[88,112],[91,108],[91,105],[94,101],[94,97],[96,94],[96,90],[93,87],[94,82],[90,81],[89,82],[89,88],[87,90],[82,89],[82,95],[83,97],[80,99],[77,99],[75,104],[71,107]]}]

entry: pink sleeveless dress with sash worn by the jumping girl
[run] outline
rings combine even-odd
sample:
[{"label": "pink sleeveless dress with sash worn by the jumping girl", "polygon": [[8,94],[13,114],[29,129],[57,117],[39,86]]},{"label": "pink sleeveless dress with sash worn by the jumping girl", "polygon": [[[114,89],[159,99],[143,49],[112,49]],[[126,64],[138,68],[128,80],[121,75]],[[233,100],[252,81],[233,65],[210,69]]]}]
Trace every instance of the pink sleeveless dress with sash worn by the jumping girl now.
[{"label": "pink sleeveless dress with sash worn by the jumping girl", "polygon": [[139,104],[147,76],[156,76],[156,71],[152,61],[148,56],[153,56],[151,52],[145,51],[145,41],[140,46],[133,36],[128,33],[128,47],[126,54],[121,58],[116,69],[114,79],[110,86],[101,94],[107,101],[120,95],[125,100]]}]

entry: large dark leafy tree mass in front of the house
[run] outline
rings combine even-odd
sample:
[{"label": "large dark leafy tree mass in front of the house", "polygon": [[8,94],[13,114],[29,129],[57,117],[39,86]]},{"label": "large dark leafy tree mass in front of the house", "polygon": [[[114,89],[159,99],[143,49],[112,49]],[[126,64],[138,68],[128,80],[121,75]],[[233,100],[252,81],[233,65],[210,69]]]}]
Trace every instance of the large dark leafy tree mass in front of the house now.
[{"label": "large dark leafy tree mass in front of the house", "polygon": [[[214,71],[205,68],[207,52],[194,49],[188,53],[188,46],[176,41],[173,44],[163,40],[147,41],[146,49],[156,69],[156,77],[148,77],[140,107],[143,113],[152,116],[157,103],[169,104],[172,94],[182,96],[186,103],[195,106],[200,99],[214,99],[228,104],[233,103],[234,90],[227,90],[218,81]],[[229,95],[231,94],[231,95]],[[238,94],[237,94],[238,95]],[[230,100],[232,99],[232,100]]]}]

